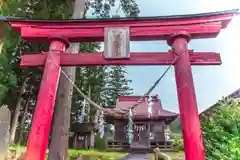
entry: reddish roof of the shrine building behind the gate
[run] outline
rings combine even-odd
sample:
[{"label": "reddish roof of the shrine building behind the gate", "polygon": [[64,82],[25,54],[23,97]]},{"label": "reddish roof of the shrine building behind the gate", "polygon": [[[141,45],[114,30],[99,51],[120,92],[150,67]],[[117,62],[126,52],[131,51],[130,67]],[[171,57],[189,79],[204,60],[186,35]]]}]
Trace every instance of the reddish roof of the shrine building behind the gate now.
[{"label": "reddish roof of the shrine building behind the gate", "polygon": [[[117,99],[115,108],[105,108],[105,114],[109,117],[113,117],[116,119],[127,119],[127,116],[122,116],[123,113],[127,113],[127,111],[134,106],[137,101],[141,98],[141,96],[120,96]],[[161,100],[158,96],[152,96],[152,115],[149,117],[148,114],[148,99],[150,97],[146,96],[142,99],[142,103],[139,103],[132,111],[133,119],[141,120],[141,119],[165,119],[172,118],[175,119],[178,114],[165,110],[162,107]],[[121,113],[122,112],[122,113]]]}]

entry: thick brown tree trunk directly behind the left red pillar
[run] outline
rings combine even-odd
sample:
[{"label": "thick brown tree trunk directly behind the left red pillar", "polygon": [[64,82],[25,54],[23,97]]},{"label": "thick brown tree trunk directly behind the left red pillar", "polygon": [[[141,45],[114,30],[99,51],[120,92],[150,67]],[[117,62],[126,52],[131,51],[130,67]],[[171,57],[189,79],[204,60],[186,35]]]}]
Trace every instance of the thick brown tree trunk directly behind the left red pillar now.
[{"label": "thick brown tree trunk directly behind the left red pillar", "polygon": [[[75,0],[72,18],[82,18],[84,15],[85,1]],[[79,43],[71,43],[67,52],[78,53]],[[75,81],[76,67],[63,67],[62,70]],[[73,85],[61,74],[57,100],[54,110],[54,122],[52,139],[49,146],[48,160],[67,160],[68,159],[68,139],[70,114],[72,105]]]}]

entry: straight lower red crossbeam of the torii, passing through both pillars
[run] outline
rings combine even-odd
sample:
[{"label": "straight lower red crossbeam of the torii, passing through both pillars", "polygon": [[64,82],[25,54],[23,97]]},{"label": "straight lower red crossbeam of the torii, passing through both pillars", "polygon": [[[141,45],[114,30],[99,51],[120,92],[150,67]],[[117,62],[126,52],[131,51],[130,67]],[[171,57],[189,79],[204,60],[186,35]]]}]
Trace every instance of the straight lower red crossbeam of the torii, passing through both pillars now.
[{"label": "straight lower red crossbeam of the torii, passing through both pillars", "polygon": [[[220,65],[220,54],[214,52],[193,52],[188,51],[191,65]],[[21,67],[37,67],[44,66],[46,54],[26,54],[21,57]],[[80,53],[60,54],[61,66],[102,66],[102,65],[170,65],[174,60],[174,54],[169,52],[142,52],[130,53],[129,59],[104,59],[103,53]]]}]

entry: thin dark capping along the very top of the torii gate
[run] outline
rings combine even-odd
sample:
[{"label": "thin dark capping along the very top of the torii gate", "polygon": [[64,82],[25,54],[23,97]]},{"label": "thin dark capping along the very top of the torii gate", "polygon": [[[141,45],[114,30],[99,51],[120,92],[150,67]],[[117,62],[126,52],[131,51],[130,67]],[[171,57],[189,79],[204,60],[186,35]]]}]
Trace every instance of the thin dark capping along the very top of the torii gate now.
[{"label": "thin dark capping along the very top of the torii gate", "polygon": [[217,11],[217,12],[207,12],[207,13],[197,13],[197,14],[184,14],[184,15],[169,15],[169,16],[151,16],[151,17],[119,17],[119,18],[88,18],[88,19],[24,19],[23,17],[11,17],[11,16],[0,16],[0,20],[4,21],[32,21],[32,22],[46,22],[46,23],[62,23],[62,22],[90,22],[90,21],[137,21],[137,20],[176,20],[176,19],[191,19],[200,17],[212,17],[221,16],[226,14],[236,14],[239,9]]}]

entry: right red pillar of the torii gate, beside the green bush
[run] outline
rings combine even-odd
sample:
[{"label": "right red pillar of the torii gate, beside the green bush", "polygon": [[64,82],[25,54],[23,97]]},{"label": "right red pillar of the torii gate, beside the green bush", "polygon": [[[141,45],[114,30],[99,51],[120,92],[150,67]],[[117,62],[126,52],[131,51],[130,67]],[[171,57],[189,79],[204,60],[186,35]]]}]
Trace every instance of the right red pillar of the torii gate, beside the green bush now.
[{"label": "right red pillar of the torii gate, beside the green bush", "polygon": [[188,42],[191,37],[187,33],[172,35],[168,44],[175,56],[179,56],[175,63],[175,76],[178,93],[178,104],[184,151],[186,160],[205,160],[197,100],[188,53]]}]

